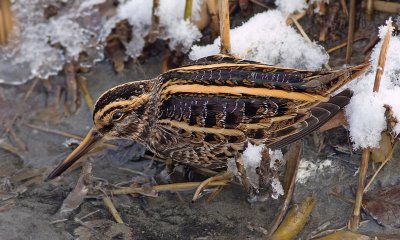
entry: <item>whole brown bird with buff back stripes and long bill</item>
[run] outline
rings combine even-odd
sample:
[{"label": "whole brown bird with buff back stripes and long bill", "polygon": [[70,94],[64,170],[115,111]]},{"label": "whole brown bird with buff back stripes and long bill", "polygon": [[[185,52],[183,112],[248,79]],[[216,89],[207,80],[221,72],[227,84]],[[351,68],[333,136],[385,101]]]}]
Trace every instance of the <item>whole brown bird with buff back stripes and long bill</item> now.
[{"label": "whole brown bird with buff back stripes and long bill", "polygon": [[217,54],[118,85],[99,97],[94,127],[47,180],[103,139],[135,140],[159,158],[209,169],[226,167],[248,143],[283,148],[345,107],[351,90],[331,95],[369,65],[312,71]]}]

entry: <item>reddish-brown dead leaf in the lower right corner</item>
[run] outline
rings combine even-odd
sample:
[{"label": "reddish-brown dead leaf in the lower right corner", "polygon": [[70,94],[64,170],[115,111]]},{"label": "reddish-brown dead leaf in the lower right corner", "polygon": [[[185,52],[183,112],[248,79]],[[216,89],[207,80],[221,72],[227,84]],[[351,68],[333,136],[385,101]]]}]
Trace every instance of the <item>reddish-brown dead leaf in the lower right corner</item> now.
[{"label": "reddish-brown dead leaf in the lower right corner", "polygon": [[366,194],[362,207],[379,224],[400,227],[400,185]]}]

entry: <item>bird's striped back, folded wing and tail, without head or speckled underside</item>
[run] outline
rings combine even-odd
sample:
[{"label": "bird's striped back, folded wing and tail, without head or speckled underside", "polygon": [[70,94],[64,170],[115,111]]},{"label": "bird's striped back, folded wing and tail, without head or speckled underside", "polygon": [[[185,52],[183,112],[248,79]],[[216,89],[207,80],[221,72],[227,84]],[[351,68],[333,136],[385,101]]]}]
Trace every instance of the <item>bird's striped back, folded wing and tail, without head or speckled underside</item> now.
[{"label": "bird's striped back, folded wing and tail, without head or speckled underside", "polygon": [[329,93],[365,68],[306,71],[217,57],[161,75],[161,127],[193,142],[250,140],[280,148],[345,106],[351,91],[333,98]]}]

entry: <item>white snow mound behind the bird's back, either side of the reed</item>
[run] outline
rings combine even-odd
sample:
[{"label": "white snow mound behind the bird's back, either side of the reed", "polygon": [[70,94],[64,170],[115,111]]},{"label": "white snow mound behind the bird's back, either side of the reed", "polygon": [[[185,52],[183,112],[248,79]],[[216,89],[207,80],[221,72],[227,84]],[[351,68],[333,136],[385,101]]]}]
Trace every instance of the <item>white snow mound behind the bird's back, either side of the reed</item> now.
[{"label": "white snow mound behind the bird's back, either side of the reed", "polygon": [[[193,46],[189,57],[198,59],[219,52],[220,38],[213,44]],[[232,53],[243,59],[271,65],[318,69],[328,61],[323,47],[308,43],[293,27],[286,25],[284,15],[270,10],[252,17],[231,30]]]}]

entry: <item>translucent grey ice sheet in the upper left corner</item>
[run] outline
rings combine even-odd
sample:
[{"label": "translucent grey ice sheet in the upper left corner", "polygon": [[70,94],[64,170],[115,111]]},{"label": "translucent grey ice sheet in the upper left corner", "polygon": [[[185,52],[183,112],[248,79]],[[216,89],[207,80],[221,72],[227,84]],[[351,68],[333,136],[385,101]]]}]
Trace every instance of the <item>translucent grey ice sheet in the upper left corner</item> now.
[{"label": "translucent grey ice sheet in the upper left corner", "polygon": [[[95,6],[102,2],[82,0],[61,6],[55,0],[15,1],[12,9],[16,26],[10,43],[0,47],[0,83],[20,84],[33,77],[48,78],[57,74],[66,61],[76,59],[82,50],[95,52],[93,61],[101,59],[102,49],[92,38],[100,17]],[[50,4],[58,7],[59,12],[46,19],[44,8]],[[53,47],[55,44],[62,48]]]}]

